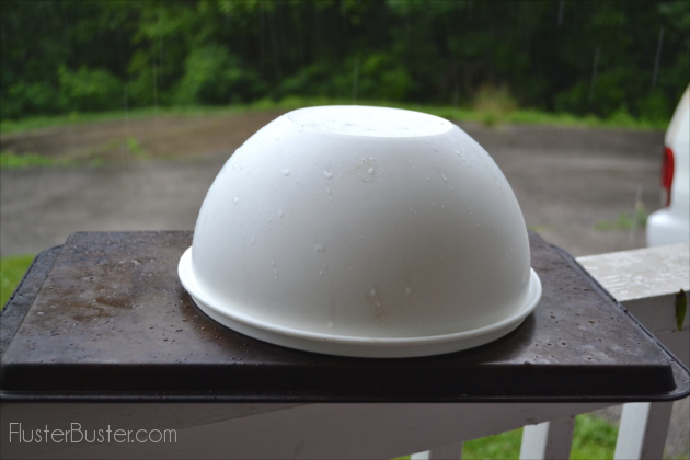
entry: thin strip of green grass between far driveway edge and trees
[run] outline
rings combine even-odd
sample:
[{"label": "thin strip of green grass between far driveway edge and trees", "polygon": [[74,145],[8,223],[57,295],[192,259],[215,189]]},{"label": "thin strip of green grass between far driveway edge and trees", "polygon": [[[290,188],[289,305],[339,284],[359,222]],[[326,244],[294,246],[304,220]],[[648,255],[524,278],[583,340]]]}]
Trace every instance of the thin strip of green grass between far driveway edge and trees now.
[{"label": "thin strip of green grass between far driveway edge and trees", "polygon": [[[19,120],[0,120],[0,133],[2,135],[24,133],[33,129],[73,126],[87,123],[102,123],[113,120],[136,120],[139,118],[154,116],[206,116],[222,115],[231,113],[260,112],[260,111],[290,111],[299,107],[313,105],[336,105],[353,104],[353,100],[327,99],[327,97],[285,97],[280,101],[264,99],[251,104],[232,106],[179,106],[179,107],[145,107],[130,111],[112,111],[102,113],[70,113],[53,116],[34,116]],[[456,122],[476,122],[486,126],[501,124],[530,124],[530,125],[555,125],[555,126],[579,126],[579,127],[606,127],[606,128],[630,128],[630,129],[666,129],[668,120],[644,120],[632,116],[621,116],[617,114],[608,119],[602,119],[594,115],[575,116],[561,113],[552,114],[542,111],[515,107],[505,102],[491,103],[480,101],[474,107],[452,107],[442,105],[419,105],[394,103],[389,101],[357,101],[358,105],[380,105],[399,108],[409,108],[441,116]]]}]

